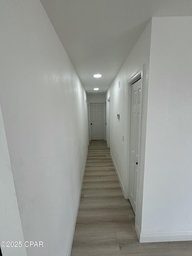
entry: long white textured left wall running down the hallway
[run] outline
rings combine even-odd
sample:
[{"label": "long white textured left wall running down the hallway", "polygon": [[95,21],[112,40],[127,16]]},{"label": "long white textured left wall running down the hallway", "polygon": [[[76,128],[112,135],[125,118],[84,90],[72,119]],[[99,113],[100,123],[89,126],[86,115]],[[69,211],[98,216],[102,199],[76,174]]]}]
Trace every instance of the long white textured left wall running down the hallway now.
[{"label": "long white textured left wall running down the hallway", "polygon": [[0,8],[0,102],[23,234],[44,243],[27,254],[67,255],[87,153],[86,92],[39,0]]}]

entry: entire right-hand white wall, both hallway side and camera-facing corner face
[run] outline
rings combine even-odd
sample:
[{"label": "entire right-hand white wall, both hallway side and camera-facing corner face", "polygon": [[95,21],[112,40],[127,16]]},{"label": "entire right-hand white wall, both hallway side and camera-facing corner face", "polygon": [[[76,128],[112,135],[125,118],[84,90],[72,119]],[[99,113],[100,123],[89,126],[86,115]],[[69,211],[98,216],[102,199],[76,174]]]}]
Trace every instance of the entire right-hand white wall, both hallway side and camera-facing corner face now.
[{"label": "entire right-hand white wall, both hallway side and camera-facing corner face", "polygon": [[127,80],[143,65],[136,223],[140,242],[192,240],[191,24],[192,17],[153,18],[152,29],[150,22],[106,95],[111,97],[111,155],[127,197],[128,138],[122,140],[126,134]]}]

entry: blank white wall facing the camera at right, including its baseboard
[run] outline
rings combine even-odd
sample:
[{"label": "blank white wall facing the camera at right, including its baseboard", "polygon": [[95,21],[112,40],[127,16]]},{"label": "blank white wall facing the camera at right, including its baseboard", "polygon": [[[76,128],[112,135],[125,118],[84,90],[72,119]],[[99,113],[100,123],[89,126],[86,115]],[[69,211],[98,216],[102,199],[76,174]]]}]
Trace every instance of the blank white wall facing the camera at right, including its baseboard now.
[{"label": "blank white wall facing the camera at right, including its baseboard", "polygon": [[192,240],[192,17],[152,19],[141,242]]}]

